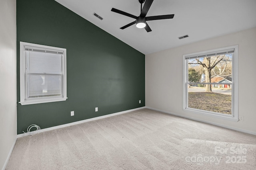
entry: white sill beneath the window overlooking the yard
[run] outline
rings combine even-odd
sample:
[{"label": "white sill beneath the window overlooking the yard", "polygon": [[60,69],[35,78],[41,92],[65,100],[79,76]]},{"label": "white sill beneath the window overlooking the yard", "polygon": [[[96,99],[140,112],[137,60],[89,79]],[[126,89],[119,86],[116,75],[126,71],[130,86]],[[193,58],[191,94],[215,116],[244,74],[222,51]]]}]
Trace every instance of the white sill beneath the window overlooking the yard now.
[{"label": "white sill beneath the window overlooking the yard", "polygon": [[216,118],[220,118],[220,119],[224,119],[224,120],[229,120],[229,121],[238,121],[239,119],[232,116],[232,115],[222,115],[221,113],[219,114],[214,114],[214,113],[207,113],[207,112],[202,112],[200,110],[197,109],[183,109],[184,111],[188,111],[190,113],[196,113],[196,114],[200,114],[200,115],[206,115],[206,116],[210,116],[210,117],[216,117]]}]

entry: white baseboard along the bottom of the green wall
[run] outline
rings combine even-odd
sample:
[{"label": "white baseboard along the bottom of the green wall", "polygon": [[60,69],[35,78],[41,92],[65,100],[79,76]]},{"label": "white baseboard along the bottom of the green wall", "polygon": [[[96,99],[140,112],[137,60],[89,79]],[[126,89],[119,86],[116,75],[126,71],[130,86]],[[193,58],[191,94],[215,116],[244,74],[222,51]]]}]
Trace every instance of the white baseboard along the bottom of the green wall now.
[{"label": "white baseboard along the bottom of the green wall", "polygon": [[[88,122],[88,121],[94,121],[94,120],[103,119],[103,118],[106,118],[106,117],[111,117],[111,116],[115,116],[115,115],[120,115],[120,114],[123,114],[123,113],[128,113],[128,112],[130,112],[130,111],[140,110],[140,109],[144,109],[144,108],[146,108],[146,107],[145,107],[145,106],[144,106],[144,107],[138,107],[138,108],[136,108],[136,109],[130,109],[130,110],[126,110],[126,111],[120,111],[120,112],[117,112],[117,113],[112,113],[112,114],[103,115],[103,116],[99,116],[99,117],[93,117],[93,118],[85,119],[85,120],[81,120],[81,121],[75,121],[75,122],[67,123],[67,124],[64,124],[64,125],[58,125],[58,126],[54,126],[54,127],[48,127],[48,128],[45,128],[45,129],[41,129],[41,130],[40,130],[40,133],[41,133],[41,132],[45,132],[45,131],[51,131],[51,130],[54,130],[54,129],[59,129],[59,128],[62,128],[62,127],[77,125],[77,124],[85,123],[85,122]],[[19,135],[17,135],[17,138],[24,137],[24,136],[28,136],[28,134],[26,134],[26,133],[19,134]]]}]

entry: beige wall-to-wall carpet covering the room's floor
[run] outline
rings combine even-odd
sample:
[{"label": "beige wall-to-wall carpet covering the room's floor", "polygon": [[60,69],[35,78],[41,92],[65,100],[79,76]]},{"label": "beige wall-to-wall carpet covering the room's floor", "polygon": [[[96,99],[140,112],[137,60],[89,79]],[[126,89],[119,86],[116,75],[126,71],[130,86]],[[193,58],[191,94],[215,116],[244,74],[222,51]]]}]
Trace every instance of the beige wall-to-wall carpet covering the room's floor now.
[{"label": "beige wall-to-wall carpet covering the room's floor", "polygon": [[19,138],[7,170],[256,169],[256,136],[150,109]]}]

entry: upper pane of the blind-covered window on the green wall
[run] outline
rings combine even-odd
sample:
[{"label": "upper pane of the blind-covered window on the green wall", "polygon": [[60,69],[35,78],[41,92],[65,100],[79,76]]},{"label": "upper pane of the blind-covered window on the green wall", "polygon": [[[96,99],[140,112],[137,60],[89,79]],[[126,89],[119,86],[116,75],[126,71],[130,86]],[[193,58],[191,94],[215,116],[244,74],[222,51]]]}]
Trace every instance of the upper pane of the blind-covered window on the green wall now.
[{"label": "upper pane of the blind-covered window on the green wall", "polygon": [[28,72],[62,74],[61,55],[30,51],[28,58]]}]

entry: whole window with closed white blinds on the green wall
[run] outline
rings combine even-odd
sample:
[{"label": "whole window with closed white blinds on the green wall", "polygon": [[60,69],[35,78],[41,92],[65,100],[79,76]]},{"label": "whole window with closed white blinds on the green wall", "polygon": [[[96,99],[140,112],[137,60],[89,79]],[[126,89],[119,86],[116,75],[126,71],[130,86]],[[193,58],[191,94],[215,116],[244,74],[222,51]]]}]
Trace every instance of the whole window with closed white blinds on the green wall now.
[{"label": "whole window with closed white blinds on the green wall", "polygon": [[20,103],[66,100],[66,49],[20,42]]}]

